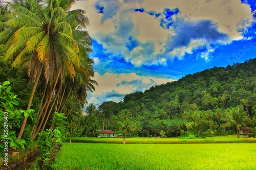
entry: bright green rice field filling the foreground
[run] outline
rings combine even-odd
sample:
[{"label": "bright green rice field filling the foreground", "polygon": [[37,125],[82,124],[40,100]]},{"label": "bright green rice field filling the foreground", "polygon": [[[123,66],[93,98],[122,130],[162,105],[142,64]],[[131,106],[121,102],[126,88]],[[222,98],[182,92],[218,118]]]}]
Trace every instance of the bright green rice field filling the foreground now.
[{"label": "bright green rice field filling the foreground", "polygon": [[65,143],[56,169],[256,169],[254,143]]}]

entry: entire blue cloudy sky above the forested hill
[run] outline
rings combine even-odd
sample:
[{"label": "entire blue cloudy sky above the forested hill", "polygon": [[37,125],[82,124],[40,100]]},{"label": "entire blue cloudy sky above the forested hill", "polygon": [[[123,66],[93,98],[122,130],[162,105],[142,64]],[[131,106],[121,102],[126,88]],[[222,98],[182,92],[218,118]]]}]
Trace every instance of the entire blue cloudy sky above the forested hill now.
[{"label": "entire blue cloudy sky above the forested hill", "polygon": [[88,103],[255,58],[256,0],[83,0],[96,91]]}]

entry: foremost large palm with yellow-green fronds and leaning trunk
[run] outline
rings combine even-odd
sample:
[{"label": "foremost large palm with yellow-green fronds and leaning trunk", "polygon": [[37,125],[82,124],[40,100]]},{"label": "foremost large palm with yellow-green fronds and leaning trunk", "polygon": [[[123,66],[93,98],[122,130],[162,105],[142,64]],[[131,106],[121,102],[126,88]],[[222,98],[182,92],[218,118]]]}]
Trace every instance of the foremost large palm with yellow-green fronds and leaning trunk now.
[{"label": "foremost large palm with yellow-green fronds and leaning trunk", "polygon": [[[70,11],[75,2],[16,0],[10,6],[11,13],[6,15],[8,20],[4,23],[7,29],[0,33],[0,43],[6,44],[6,60],[13,58],[12,67],[24,65],[30,80],[34,82],[27,109],[31,107],[40,77],[44,77],[45,86],[49,88],[45,110],[48,110],[57,84],[62,84],[63,77],[74,81],[76,71],[83,70],[86,77],[84,88],[93,85],[90,79],[93,76],[92,67],[82,64],[90,60],[87,53],[91,52],[92,39],[87,31],[82,30],[89,20],[84,10]],[[24,118],[18,140],[22,137],[26,122],[27,117]]]}]

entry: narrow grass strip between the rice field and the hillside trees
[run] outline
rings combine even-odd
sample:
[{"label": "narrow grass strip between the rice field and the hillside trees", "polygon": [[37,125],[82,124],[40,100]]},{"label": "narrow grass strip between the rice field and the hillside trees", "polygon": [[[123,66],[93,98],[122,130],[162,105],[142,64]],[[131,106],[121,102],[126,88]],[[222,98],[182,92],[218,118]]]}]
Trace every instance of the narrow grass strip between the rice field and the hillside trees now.
[{"label": "narrow grass strip between the rice field and the hillside trees", "polygon": [[[122,138],[92,138],[92,137],[70,137],[67,142],[84,143],[122,143]],[[256,143],[256,138],[237,138],[236,135],[214,136],[198,139],[179,138],[126,138],[126,143]]]}]

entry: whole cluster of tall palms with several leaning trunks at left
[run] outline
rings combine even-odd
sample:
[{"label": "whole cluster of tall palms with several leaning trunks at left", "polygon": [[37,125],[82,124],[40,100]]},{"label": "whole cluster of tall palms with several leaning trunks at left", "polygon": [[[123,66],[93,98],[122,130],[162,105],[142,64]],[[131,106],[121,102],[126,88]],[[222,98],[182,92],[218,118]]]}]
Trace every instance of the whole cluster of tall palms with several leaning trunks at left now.
[{"label": "whole cluster of tall palms with several leaning trunks at left", "polygon": [[[84,10],[70,10],[75,0],[14,0],[0,15],[0,44],[6,45],[6,60],[22,65],[33,82],[27,109],[36,91],[41,94],[33,139],[43,131],[53,112],[66,113],[87,103],[94,91],[92,39],[85,31],[89,19]],[[70,105],[69,103],[72,103]],[[69,107],[68,107],[69,106]],[[27,122],[24,118],[18,140]]]}]

